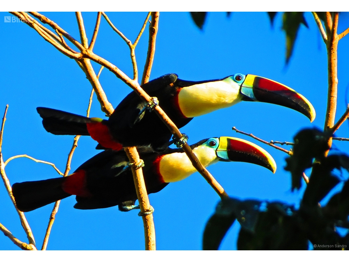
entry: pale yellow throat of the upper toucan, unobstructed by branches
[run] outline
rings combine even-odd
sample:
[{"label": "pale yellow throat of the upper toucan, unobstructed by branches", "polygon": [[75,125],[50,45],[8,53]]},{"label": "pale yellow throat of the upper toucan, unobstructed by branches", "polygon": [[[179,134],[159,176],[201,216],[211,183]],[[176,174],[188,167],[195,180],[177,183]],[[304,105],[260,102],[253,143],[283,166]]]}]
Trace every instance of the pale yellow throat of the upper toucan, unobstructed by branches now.
[{"label": "pale yellow throat of the upper toucan, unobstructed by branches", "polygon": [[231,79],[183,87],[178,93],[178,105],[186,117],[208,114],[241,101],[239,85]]}]

